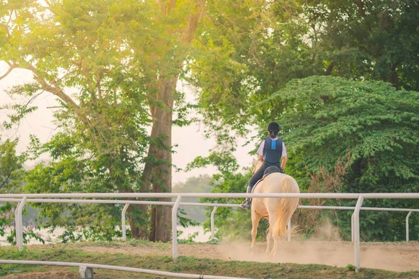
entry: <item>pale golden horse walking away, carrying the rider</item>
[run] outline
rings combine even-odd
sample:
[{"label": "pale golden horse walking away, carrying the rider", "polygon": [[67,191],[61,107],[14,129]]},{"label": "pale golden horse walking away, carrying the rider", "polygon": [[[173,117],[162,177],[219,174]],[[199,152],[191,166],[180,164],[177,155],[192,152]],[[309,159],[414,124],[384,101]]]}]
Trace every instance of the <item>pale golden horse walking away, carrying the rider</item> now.
[{"label": "pale golden horse walking away, carrying the rider", "polygon": [[[262,165],[262,162],[253,159],[253,174]],[[253,193],[300,193],[297,181],[287,174],[274,172],[260,181],[255,186]],[[258,225],[261,218],[269,220],[269,229],[267,234],[267,248],[269,251],[270,239],[274,239],[274,247],[272,248],[272,255],[277,252],[277,243],[279,236],[285,234],[286,225],[295,209],[297,209],[298,198],[289,197],[253,197],[251,202],[251,251],[255,250],[256,234],[258,232]]]}]

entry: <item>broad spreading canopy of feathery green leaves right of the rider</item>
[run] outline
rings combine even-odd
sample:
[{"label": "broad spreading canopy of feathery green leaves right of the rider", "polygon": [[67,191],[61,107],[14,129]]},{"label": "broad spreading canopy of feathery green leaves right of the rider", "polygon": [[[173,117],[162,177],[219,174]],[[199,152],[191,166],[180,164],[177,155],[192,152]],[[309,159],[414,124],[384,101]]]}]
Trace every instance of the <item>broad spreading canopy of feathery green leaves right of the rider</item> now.
[{"label": "broad spreading canopy of feathery green leaves right of the rider", "polygon": [[355,182],[371,187],[365,190],[377,190],[388,181],[404,187],[400,190],[416,191],[417,92],[396,90],[383,82],[309,77],[290,82],[270,98],[289,104],[277,118],[284,123],[289,150],[305,158],[295,168],[330,169],[349,151],[349,164],[360,174]]}]

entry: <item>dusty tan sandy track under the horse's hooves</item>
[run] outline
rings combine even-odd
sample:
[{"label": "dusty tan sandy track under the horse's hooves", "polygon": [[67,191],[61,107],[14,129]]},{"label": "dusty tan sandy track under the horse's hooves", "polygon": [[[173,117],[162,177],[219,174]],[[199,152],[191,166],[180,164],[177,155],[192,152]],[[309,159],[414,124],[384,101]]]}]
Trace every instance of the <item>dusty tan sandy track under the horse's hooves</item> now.
[{"label": "dusty tan sandy track under the horse's hooves", "polygon": [[[172,255],[172,248],[133,247],[122,248],[84,246],[82,250],[96,252],[124,252],[140,255]],[[353,243],[326,241],[294,241],[279,243],[277,255],[265,254],[266,243],[257,243],[251,255],[250,243],[220,245],[196,244],[178,247],[179,256],[206,257],[210,259],[238,260],[251,262],[280,262],[296,264],[327,264],[347,266],[354,264]],[[361,266],[390,271],[419,271],[419,243],[361,243]]]}]

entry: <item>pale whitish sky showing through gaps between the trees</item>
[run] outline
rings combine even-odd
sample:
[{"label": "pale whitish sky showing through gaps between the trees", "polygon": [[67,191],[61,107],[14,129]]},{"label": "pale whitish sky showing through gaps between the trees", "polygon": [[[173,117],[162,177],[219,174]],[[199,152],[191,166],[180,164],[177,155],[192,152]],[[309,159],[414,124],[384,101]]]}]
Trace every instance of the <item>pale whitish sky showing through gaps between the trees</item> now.
[{"label": "pale whitish sky showing through gaps between the trees", "polygon": [[[0,61],[0,77],[6,73],[7,69],[8,66],[6,63]],[[10,99],[5,91],[6,89],[13,85],[31,81],[32,75],[28,70],[14,69],[8,77],[0,80],[0,105],[13,103],[13,100]],[[186,91],[186,86],[182,86],[180,83],[178,84],[178,88]],[[52,113],[54,109],[49,108],[57,105],[56,98],[57,97],[47,92],[38,96],[34,102],[34,105],[38,107],[38,110],[26,116],[18,128],[8,130],[6,133],[2,131],[1,140],[19,137],[20,141],[17,146],[18,151],[24,151],[26,149],[27,144],[29,144],[29,135],[36,135],[41,142],[47,142],[47,140],[54,135],[54,129],[57,127],[57,125],[52,122]],[[187,92],[186,100],[189,102],[193,101],[193,93]],[[0,123],[3,123],[6,119],[7,112],[0,110]],[[249,139],[251,136],[252,135],[249,135]],[[248,146],[242,146],[246,141],[247,139],[237,140],[235,157],[241,167],[249,167],[252,162],[249,151],[253,149],[253,145],[249,144]],[[197,124],[191,124],[186,127],[174,126],[172,128],[172,144],[178,145],[175,147],[172,163],[183,169],[186,167],[186,164],[190,163],[197,156],[209,155],[210,149],[215,146],[216,142],[214,139],[206,139]],[[44,156],[43,159],[47,159],[47,156]],[[175,185],[176,183],[186,181],[186,179],[192,176],[198,176],[200,174],[212,175],[214,173],[216,173],[215,167],[193,169],[191,172],[175,172],[175,170],[173,170],[172,183]]]}]

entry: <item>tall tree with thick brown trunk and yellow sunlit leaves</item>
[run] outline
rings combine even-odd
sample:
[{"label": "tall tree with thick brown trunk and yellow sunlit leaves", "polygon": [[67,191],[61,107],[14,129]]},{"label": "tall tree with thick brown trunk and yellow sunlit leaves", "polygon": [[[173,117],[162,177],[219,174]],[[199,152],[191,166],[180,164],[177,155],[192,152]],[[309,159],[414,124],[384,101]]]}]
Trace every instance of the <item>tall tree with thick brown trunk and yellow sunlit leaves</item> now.
[{"label": "tall tree with thick brown trunk and yellow sunlit leaves", "polygon": [[[265,10],[270,4],[265,1],[230,1],[220,9],[219,1],[200,0],[45,3],[46,6],[37,1],[2,4],[1,59],[10,67],[3,76],[14,68],[26,68],[34,73],[36,80],[36,84],[16,88],[12,93],[29,98],[36,98],[41,91],[54,94],[62,106],[57,113],[68,117],[66,121],[70,130],[67,131],[73,132],[71,129],[76,128],[86,136],[83,141],[93,144],[87,147],[87,153],[109,155],[111,158],[120,155],[119,151],[109,152],[108,147],[115,146],[112,144],[114,141],[110,140],[105,146],[101,142],[117,139],[124,133],[114,133],[115,126],[121,123],[105,121],[105,111],[115,110],[125,102],[130,107],[138,107],[138,117],[131,121],[142,128],[151,126],[149,137],[141,131],[142,144],[149,144],[147,157],[143,153],[143,145],[131,146],[126,149],[126,154],[131,156],[133,151],[137,153],[136,160],[140,160],[141,164],[137,165],[142,168],[140,191],[149,190],[152,183],[154,192],[170,192],[171,126],[172,123],[187,123],[182,119],[186,111],[182,94],[175,91],[177,80],[185,79],[190,70],[196,69],[193,66],[195,61],[200,60],[211,63],[214,69],[222,68],[221,75],[232,69],[228,77],[234,79],[233,73],[240,73],[242,66],[236,63],[229,67],[229,55],[233,52],[223,52],[233,50],[229,40],[240,43],[247,38],[249,31],[262,30],[264,22],[260,19],[269,15]],[[228,31],[230,27],[233,29]],[[266,33],[266,30],[258,33]],[[226,38],[217,38],[226,31]],[[196,33],[198,40],[193,41]],[[207,34],[211,38],[203,40]],[[225,46],[218,47],[219,42],[224,42]],[[214,59],[217,56],[222,58],[221,61]],[[214,84],[218,81],[214,80]],[[135,86],[135,89],[130,86]],[[66,93],[68,87],[75,88],[76,93]],[[121,97],[125,94],[128,99]],[[29,113],[29,107],[29,104],[15,107],[20,115],[13,120],[17,122],[22,113]],[[180,118],[173,120],[174,112]],[[121,119],[120,115],[114,117],[115,121]],[[94,146],[95,150],[91,151],[90,146]],[[52,152],[50,149],[44,151]],[[75,161],[79,163],[80,160]],[[112,164],[106,166],[110,172],[114,171],[110,169],[114,167]],[[145,208],[142,207],[141,211]],[[130,213],[133,235],[144,236],[145,232],[140,233],[133,223],[135,213]],[[149,238],[168,240],[170,227],[166,224],[170,223],[170,210],[152,208],[151,220]]]}]

